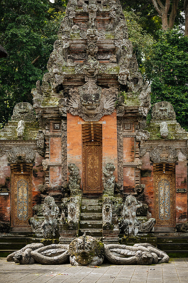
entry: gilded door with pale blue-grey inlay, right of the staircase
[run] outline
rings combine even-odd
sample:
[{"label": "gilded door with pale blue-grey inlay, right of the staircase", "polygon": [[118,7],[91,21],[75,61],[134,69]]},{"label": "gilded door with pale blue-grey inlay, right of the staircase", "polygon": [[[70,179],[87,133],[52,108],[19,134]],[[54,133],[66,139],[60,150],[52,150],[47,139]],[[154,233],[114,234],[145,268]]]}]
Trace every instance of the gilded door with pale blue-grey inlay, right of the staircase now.
[{"label": "gilded door with pale blue-grey inlay, right of the staircase", "polygon": [[176,225],[174,173],[154,173],[154,212],[156,226]]}]

